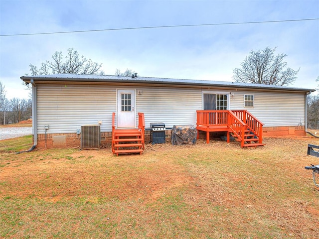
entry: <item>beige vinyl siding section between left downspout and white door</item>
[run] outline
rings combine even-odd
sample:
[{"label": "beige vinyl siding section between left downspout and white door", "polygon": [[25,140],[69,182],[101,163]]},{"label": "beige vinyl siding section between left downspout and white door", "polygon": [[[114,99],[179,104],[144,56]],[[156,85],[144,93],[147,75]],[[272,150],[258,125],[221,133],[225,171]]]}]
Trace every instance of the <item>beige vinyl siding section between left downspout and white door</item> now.
[{"label": "beige vinyl siding section between left downspout and white door", "polygon": [[103,86],[37,86],[37,129],[47,133],[74,133],[84,124],[97,124],[101,131],[112,130],[116,112],[116,88]]}]

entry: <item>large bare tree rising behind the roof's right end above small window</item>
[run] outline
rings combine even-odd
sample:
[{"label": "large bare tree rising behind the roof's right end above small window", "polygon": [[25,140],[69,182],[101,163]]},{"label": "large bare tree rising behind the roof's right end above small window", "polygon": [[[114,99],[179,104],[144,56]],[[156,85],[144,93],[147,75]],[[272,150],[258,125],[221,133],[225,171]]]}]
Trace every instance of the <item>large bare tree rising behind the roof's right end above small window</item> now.
[{"label": "large bare tree rising behind the roof's right end above small window", "polygon": [[233,79],[241,83],[254,83],[287,86],[292,84],[299,72],[287,67],[284,61],[286,54],[274,55],[275,48],[266,47],[264,50],[251,51],[241,68],[233,70]]}]

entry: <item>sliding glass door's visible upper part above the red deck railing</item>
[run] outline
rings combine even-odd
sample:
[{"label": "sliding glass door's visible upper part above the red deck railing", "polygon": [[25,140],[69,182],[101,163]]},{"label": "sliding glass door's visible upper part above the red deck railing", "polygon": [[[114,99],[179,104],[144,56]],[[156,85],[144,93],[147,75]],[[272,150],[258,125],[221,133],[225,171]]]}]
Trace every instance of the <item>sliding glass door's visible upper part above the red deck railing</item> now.
[{"label": "sliding glass door's visible upper part above the red deck railing", "polygon": [[228,94],[203,93],[203,110],[227,110]]}]

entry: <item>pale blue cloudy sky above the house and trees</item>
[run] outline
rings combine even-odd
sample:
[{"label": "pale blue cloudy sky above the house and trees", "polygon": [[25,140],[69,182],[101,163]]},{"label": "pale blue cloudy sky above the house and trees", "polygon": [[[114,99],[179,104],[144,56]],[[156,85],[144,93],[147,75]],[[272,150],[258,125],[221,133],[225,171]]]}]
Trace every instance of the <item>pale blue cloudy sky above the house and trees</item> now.
[{"label": "pale blue cloudy sky above the house and trees", "polygon": [[[319,82],[319,0],[0,0],[0,82],[8,99],[29,97],[21,76],[56,51],[74,48],[106,75],[234,81],[249,52],[275,48],[298,70],[292,87]],[[218,24],[63,34],[169,25]]]}]

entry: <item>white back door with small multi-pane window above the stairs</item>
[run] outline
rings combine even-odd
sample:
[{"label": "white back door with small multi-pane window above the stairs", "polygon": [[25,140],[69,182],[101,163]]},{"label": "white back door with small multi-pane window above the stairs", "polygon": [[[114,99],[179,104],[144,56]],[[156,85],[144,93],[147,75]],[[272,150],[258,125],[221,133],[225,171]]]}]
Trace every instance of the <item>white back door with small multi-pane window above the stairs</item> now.
[{"label": "white back door with small multi-pane window above the stairs", "polygon": [[117,127],[135,128],[135,90],[117,92]]}]

